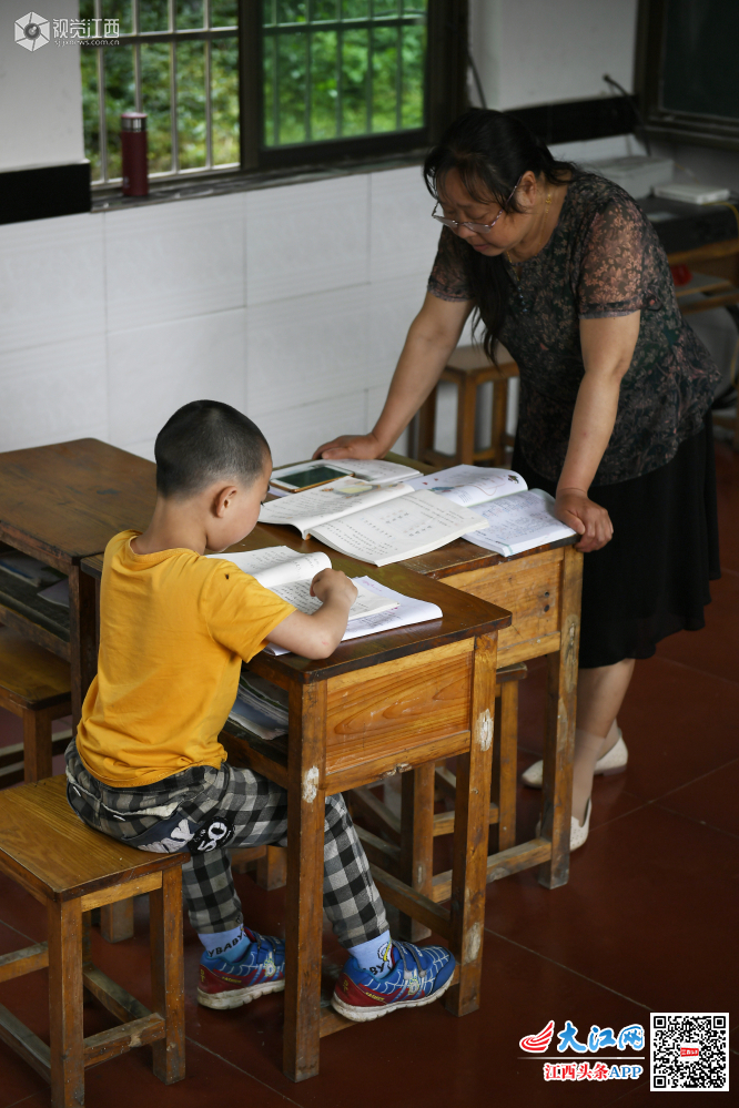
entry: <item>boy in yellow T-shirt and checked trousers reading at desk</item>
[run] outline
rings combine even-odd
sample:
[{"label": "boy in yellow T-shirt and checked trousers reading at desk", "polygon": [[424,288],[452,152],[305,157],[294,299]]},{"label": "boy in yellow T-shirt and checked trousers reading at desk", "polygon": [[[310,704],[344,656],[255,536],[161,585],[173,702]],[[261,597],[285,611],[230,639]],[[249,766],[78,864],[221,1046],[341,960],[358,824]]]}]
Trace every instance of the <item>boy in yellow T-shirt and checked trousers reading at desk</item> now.
[{"label": "boy in yellow T-shirt and checked trousers reading at desk", "polygon": [[[226,404],[196,400],[160,431],[156,505],[143,533],[108,543],[98,675],[67,751],[68,797],[90,826],[141,850],[188,851],[190,922],[205,951],[198,999],[235,1008],[285,984],[284,944],[244,927],[227,848],[280,843],[286,793],[225,761],[217,736],[242,659],[265,641],[306,658],[340,643],[356,589],[314,577],[312,616],[259,585],[222,551],[254,528],[272,458],[260,429]],[[351,957],[334,1007],[374,1019],[435,1000],[454,958],[391,939],[385,911],[341,795],[326,800],[323,902]]]}]

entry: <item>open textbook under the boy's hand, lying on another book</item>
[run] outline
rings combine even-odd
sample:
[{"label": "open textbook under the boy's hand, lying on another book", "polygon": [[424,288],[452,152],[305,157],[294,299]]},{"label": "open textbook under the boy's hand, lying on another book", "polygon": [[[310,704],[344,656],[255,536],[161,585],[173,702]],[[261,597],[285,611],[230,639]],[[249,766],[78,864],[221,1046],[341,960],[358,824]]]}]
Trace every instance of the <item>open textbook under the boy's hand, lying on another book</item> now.
[{"label": "open textbook under the boy's hand, lying on another book", "polygon": [[[263,547],[261,550],[207,557],[232,561],[244,573],[250,573],[265,589],[275,592],[298,611],[312,614],[321,608],[318,598],[311,596],[311,581],[322,569],[331,569],[331,558],[322,550],[296,555],[290,547]],[[356,581],[354,583],[357,585]],[[350,620],[395,608],[395,601],[377,596],[362,585],[357,585],[357,591],[358,596],[350,608]]]}]

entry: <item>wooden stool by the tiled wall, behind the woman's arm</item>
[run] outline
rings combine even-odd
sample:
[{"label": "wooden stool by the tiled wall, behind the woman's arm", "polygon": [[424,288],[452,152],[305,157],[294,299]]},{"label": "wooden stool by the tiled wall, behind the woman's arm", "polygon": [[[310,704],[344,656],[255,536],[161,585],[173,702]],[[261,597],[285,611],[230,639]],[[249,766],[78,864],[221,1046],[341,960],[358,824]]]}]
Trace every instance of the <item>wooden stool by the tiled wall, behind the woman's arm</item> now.
[{"label": "wooden stool by the tiled wall, behind the woman's arm", "polygon": [[[506,355],[507,356],[507,355]],[[488,461],[504,466],[506,446],[513,446],[513,437],[506,435],[506,411],[508,408],[508,380],[518,376],[515,362],[495,366],[479,346],[458,346],[442,370],[439,380],[448,380],[457,386],[457,436],[453,455],[442,454],[434,448],[436,431],[436,386],[421,406],[418,416],[418,450],[421,461],[433,466],[472,466],[476,461]],[[493,382],[493,429],[490,446],[485,450],[475,449],[475,407],[477,386]]]}]

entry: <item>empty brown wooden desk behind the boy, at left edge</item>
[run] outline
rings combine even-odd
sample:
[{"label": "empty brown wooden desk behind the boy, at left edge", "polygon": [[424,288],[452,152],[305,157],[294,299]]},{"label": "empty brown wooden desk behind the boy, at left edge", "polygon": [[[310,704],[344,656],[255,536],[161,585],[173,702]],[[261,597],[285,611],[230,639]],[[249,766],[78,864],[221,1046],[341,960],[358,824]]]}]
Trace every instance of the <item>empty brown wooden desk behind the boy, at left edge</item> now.
[{"label": "empty brown wooden desk behind the boy, at left edge", "polygon": [[70,662],[72,716],[97,668],[88,555],[118,531],[141,530],[154,507],[154,466],[94,438],[0,454],[0,540],[69,577],[69,612],[0,570],[0,622]]}]

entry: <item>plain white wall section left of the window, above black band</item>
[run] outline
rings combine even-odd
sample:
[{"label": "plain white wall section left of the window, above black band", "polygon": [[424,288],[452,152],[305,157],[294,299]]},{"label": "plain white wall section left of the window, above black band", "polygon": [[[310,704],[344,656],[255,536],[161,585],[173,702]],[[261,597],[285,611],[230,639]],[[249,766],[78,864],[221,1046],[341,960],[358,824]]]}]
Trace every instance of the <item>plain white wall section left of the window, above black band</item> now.
[{"label": "plain white wall section left of the window, above black band", "polygon": [[[41,49],[24,50],[14,22],[33,4],[0,0],[0,172],[81,161],[80,47],[57,47],[52,37]],[[75,19],[78,0],[53,0],[39,14]]]}]

